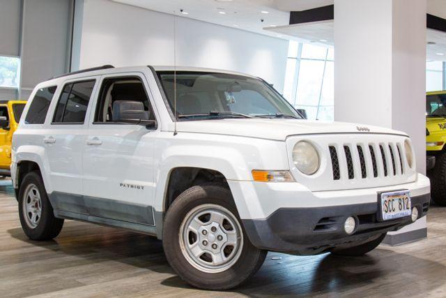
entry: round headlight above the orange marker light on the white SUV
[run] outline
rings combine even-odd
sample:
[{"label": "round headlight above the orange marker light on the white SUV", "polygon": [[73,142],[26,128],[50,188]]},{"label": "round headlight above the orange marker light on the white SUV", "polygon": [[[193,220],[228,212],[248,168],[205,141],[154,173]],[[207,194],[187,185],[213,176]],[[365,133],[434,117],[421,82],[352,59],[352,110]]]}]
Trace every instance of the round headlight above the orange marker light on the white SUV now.
[{"label": "round headlight above the orange marker light on the white SUV", "polygon": [[293,163],[300,172],[312,175],[319,170],[320,159],[318,151],[309,142],[297,142],[293,148]]}]

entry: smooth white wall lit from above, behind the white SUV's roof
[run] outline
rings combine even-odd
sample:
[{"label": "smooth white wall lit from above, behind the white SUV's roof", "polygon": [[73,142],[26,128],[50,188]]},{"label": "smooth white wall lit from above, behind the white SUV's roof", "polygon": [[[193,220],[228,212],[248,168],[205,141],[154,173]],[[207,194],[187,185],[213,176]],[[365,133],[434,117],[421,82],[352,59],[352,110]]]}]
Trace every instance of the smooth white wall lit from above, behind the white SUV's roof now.
[{"label": "smooth white wall lit from above, behind the white SUV's roof", "polygon": [[[79,68],[174,65],[173,15],[107,0],[83,6]],[[249,73],[282,91],[287,52],[286,40],[176,17],[178,66]]]}]

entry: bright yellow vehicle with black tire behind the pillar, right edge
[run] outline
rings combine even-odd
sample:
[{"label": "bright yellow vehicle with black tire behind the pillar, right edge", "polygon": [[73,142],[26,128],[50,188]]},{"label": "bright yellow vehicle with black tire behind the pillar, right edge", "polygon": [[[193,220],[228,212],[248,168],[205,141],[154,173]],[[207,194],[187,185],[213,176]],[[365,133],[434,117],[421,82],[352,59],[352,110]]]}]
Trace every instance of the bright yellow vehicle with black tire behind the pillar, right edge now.
[{"label": "bright yellow vehicle with black tire behind the pillar, right edge", "polygon": [[431,196],[446,206],[446,90],[426,94],[426,169]]}]

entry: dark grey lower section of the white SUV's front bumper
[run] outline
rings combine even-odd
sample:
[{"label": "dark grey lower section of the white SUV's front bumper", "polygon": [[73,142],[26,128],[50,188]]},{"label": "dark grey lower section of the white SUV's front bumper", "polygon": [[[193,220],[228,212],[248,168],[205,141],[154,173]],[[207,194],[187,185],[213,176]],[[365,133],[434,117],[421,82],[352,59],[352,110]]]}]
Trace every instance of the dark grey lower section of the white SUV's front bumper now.
[{"label": "dark grey lower section of the white SUV's front bumper", "polygon": [[[430,194],[412,197],[419,218],[429,210]],[[278,209],[264,220],[244,219],[243,225],[254,246],[268,251],[315,255],[334,247],[355,246],[385,232],[412,223],[410,216],[392,221],[377,220],[378,203],[336,207]],[[348,216],[357,219],[352,235],[344,232]]]}]

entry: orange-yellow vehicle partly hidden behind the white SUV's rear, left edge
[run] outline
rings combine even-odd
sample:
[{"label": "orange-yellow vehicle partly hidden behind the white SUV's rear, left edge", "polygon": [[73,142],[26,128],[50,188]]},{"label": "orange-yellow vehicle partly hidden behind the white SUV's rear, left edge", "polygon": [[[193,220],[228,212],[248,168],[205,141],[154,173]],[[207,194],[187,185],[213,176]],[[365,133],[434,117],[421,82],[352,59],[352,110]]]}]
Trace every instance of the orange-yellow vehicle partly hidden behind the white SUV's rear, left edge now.
[{"label": "orange-yellow vehicle partly hidden behind the white SUV's rear, left edge", "polygon": [[10,176],[11,143],[26,100],[0,101],[0,176]]}]

